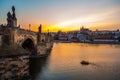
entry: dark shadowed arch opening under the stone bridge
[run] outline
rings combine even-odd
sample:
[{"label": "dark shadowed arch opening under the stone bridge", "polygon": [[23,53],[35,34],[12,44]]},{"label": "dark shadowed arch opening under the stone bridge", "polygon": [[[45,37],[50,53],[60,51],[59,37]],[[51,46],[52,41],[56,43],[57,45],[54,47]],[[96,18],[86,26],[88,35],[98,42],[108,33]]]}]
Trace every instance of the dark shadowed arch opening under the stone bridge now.
[{"label": "dark shadowed arch opening under the stone bridge", "polygon": [[32,40],[31,38],[27,38],[25,39],[21,46],[29,51],[31,53],[31,55],[34,55],[36,53],[36,48],[35,48],[35,43],[34,43],[34,40]]}]

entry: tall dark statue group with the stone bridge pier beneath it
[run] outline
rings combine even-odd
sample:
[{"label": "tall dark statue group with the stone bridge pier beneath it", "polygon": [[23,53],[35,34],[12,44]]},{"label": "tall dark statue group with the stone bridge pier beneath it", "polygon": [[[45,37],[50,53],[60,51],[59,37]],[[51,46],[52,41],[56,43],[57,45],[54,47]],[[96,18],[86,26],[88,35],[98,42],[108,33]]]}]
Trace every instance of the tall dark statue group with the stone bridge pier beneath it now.
[{"label": "tall dark statue group with the stone bridge pier beneath it", "polygon": [[15,7],[12,6],[12,14],[7,13],[7,26],[3,32],[3,44],[14,45],[14,32],[17,27],[17,18],[15,14]]}]

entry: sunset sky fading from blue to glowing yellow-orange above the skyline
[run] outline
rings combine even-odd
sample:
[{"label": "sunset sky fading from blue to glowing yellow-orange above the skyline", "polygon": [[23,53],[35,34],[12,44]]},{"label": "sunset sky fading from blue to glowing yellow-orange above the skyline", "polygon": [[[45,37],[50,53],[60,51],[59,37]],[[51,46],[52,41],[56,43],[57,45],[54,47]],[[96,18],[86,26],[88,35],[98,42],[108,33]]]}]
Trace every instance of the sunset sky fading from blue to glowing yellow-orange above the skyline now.
[{"label": "sunset sky fading from blue to glowing yellow-orange above the skyline", "polygon": [[18,25],[37,31],[120,29],[120,0],[0,0],[0,24],[6,23],[11,6],[16,7]]}]

